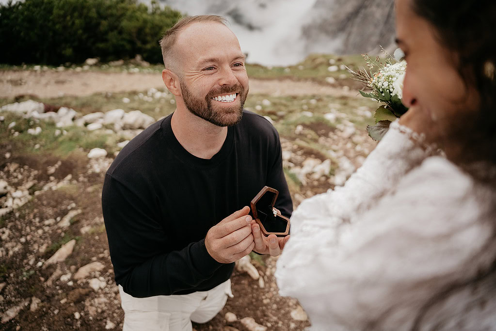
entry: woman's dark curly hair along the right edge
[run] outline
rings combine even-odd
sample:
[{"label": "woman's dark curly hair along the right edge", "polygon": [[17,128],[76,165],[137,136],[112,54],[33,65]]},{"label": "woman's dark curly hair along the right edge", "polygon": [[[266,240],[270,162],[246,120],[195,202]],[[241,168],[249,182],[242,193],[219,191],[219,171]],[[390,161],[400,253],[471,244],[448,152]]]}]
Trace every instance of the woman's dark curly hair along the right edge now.
[{"label": "woman's dark curly hair along the right edge", "polygon": [[[454,162],[480,183],[489,186],[494,194],[482,195],[479,199],[491,199],[488,202],[492,202],[493,208],[489,215],[496,215],[496,1],[411,0],[410,3],[413,11],[434,27],[438,42],[457,55],[456,63],[465,85],[475,87],[479,92],[480,111],[476,117],[467,121],[460,119],[464,126],[463,130],[458,131],[463,149],[462,156]],[[496,220],[492,225],[493,236],[479,253],[480,257],[485,256],[488,261],[492,261],[490,267],[480,270],[472,279],[449,284],[441,292],[433,293],[429,302],[419,311],[412,330],[423,330],[425,318],[436,311],[435,307],[457,293],[494,286]],[[484,299],[479,301],[474,298],[471,304],[484,304]],[[443,322],[439,323],[441,326]]]}]

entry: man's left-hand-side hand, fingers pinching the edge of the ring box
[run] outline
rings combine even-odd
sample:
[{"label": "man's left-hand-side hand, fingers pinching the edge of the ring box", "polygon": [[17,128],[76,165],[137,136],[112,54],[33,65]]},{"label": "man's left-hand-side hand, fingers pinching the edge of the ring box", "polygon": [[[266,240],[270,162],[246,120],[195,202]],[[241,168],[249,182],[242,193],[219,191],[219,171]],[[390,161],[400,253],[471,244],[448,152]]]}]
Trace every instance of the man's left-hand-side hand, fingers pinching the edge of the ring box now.
[{"label": "man's left-hand-side hand, fingers pinching the edge of the ring box", "polygon": [[208,230],[205,247],[208,254],[220,263],[238,261],[255,246],[251,234],[249,208],[231,214]]}]

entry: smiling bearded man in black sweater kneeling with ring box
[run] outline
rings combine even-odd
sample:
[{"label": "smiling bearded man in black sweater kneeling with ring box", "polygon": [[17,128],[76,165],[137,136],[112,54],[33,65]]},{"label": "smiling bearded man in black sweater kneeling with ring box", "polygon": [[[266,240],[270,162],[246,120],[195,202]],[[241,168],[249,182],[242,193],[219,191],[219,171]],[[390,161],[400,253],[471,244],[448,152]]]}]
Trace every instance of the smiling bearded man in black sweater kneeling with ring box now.
[{"label": "smiling bearded man in black sweater kneeling with ring box", "polygon": [[234,262],[279,255],[248,205],[265,186],[293,207],[275,128],[244,111],[248,76],[219,16],[186,17],[160,41],[172,115],[129,142],[107,171],[102,206],[124,309],[124,331],[191,330],[231,294]]}]

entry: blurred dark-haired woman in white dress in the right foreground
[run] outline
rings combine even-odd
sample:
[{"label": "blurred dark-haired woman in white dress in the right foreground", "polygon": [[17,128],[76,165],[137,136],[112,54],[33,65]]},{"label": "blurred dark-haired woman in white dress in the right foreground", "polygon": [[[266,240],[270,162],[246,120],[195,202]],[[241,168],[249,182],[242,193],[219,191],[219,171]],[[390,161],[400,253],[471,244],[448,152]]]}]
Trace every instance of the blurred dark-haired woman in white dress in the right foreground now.
[{"label": "blurred dark-haired woman in white dress in the right foreground", "polygon": [[277,282],[313,330],[496,330],[496,1],[396,0],[396,20],[409,110],[293,213]]}]

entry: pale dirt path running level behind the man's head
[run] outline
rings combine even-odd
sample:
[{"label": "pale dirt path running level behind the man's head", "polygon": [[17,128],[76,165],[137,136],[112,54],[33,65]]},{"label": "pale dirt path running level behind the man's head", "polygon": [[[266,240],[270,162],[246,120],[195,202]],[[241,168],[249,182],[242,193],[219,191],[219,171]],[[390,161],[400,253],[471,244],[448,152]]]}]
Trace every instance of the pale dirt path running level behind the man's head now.
[{"label": "pale dirt path running level behind the man's head", "polygon": [[[311,81],[250,79],[250,93],[273,96],[332,95],[355,97],[357,91]],[[99,92],[143,91],[164,87],[159,73],[0,71],[0,98],[86,96]]]}]

